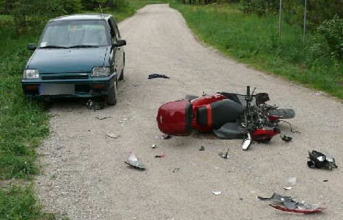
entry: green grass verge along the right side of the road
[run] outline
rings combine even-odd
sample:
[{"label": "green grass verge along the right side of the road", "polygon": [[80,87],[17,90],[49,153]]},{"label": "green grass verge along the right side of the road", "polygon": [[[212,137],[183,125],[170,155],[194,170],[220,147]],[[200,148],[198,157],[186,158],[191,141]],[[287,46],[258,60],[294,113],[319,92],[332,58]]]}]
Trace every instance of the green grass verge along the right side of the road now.
[{"label": "green grass verge along the right side of the road", "polygon": [[331,57],[318,58],[307,47],[314,36],[307,34],[303,44],[302,28],[283,23],[279,40],[276,14],[258,17],[244,14],[239,4],[192,6],[171,3],[180,11],[189,28],[204,43],[216,47],[238,61],[307,87],[343,98],[343,62],[334,64]]}]

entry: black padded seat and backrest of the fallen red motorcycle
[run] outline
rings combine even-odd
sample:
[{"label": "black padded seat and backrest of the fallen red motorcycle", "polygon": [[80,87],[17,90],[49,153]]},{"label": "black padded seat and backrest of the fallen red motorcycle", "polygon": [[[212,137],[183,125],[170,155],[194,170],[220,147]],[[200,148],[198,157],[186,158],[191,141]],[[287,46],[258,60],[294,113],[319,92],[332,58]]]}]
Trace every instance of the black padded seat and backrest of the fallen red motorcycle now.
[{"label": "black padded seat and backrest of the fallen red motorcycle", "polygon": [[236,122],[239,116],[244,114],[244,107],[233,100],[220,100],[209,104],[211,111],[211,122],[209,122],[209,108],[206,106],[200,107],[197,111],[196,121],[202,126],[211,126],[213,129],[219,129],[227,122]]}]

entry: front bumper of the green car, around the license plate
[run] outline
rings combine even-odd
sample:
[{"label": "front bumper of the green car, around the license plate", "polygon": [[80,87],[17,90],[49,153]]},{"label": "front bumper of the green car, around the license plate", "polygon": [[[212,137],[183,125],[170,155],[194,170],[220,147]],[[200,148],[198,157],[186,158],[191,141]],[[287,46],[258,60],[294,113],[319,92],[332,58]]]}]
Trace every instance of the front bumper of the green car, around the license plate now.
[{"label": "front bumper of the green car, around the license plate", "polygon": [[[108,96],[110,87],[115,85],[117,74],[111,74],[107,77],[84,78],[84,79],[23,79],[21,86],[27,98],[91,98],[97,96]],[[42,88],[49,85],[61,85],[60,93],[42,93]],[[72,87],[73,92],[63,91],[65,87]],[[57,86],[58,87],[58,86]]]}]

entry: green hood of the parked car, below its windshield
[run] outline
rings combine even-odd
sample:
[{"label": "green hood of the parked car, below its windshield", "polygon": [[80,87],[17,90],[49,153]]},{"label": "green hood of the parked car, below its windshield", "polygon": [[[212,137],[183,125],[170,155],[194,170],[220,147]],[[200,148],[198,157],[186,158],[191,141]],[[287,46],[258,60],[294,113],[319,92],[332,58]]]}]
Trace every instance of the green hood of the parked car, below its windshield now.
[{"label": "green hood of the parked car, below its windshield", "polygon": [[73,49],[38,49],[32,54],[26,69],[38,69],[40,74],[91,72],[104,66],[108,47]]}]

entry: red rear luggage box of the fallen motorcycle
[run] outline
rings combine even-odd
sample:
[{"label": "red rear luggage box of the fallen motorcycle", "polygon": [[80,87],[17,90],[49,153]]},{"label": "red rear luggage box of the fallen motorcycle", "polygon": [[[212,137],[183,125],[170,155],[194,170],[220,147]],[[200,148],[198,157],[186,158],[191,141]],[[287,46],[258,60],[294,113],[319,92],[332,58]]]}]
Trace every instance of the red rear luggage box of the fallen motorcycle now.
[{"label": "red rear luggage box of the fallen motorcycle", "polygon": [[187,136],[193,131],[192,104],[189,100],[178,100],[163,104],[157,113],[158,129],[167,135]]}]

